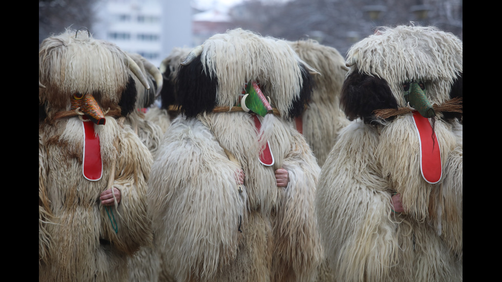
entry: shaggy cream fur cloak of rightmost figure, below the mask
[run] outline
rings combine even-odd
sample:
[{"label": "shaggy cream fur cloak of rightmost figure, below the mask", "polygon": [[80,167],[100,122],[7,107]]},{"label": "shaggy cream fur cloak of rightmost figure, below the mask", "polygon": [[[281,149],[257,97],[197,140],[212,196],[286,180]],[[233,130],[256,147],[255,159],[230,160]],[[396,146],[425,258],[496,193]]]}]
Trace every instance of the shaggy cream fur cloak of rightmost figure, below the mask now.
[{"label": "shaggy cream fur cloak of rightmost figure, below the mask", "polygon": [[[323,166],[316,204],[338,279],[462,279],[462,145],[451,125],[436,122],[444,180],[429,184],[418,166],[419,145],[407,140],[416,135],[411,123],[410,116],[379,129],[353,123]],[[408,214],[392,212],[393,191],[409,199]]]}]

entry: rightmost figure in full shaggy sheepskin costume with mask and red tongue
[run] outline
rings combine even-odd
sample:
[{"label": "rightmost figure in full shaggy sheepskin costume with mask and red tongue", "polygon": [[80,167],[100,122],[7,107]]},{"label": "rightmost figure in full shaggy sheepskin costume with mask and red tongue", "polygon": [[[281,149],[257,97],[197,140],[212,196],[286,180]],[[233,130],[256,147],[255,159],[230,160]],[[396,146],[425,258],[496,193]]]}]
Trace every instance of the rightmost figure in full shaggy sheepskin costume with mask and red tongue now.
[{"label": "rightmost figure in full shaggy sheepskin costume with mask and red tongue", "polygon": [[[324,163],[316,198],[337,280],[463,279],[462,46],[411,25],[350,48],[341,102],[355,121]],[[405,212],[392,210],[393,193]]]}]

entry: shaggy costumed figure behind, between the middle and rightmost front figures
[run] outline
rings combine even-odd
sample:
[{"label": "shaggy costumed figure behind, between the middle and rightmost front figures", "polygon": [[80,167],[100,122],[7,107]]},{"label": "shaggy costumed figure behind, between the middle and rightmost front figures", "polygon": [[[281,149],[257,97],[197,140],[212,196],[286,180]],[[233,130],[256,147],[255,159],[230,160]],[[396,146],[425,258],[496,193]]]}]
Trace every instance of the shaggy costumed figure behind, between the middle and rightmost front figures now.
[{"label": "shaggy costumed figure behind, between the middle and rightmost front figures", "polygon": [[340,91],[347,74],[345,59],[337,49],[319,44],[315,40],[289,42],[300,58],[320,74],[313,76],[314,87],[305,112],[295,119],[296,128],[322,166],[340,129],[349,124],[340,109]]}]

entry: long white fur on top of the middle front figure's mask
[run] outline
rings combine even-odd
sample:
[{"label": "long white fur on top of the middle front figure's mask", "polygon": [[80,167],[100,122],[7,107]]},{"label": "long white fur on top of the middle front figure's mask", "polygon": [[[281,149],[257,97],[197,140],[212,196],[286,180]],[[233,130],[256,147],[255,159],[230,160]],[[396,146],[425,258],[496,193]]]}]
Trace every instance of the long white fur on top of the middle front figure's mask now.
[{"label": "long white fur on top of the middle front figure's mask", "polygon": [[[232,45],[232,48],[226,46]],[[284,58],[296,58],[293,60]],[[205,41],[201,60],[204,72],[218,75],[217,104],[234,106],[244,83],[257,80],[267,89],[282,116],[286,116],[291,101],[299,97],[303,83],[299,62],[303,62],[286,41],[235,29]],[[232,68],[227,68],[232,66]],[[308,64],[305,63],[308,70]]]}]

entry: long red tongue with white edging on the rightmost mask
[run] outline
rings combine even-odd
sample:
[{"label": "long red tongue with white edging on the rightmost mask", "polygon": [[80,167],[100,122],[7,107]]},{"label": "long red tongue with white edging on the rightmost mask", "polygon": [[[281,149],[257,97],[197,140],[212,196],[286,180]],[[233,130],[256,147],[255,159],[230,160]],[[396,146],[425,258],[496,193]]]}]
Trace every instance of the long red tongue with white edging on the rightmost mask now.
[{"label": "long red tongue with white edging on the rightmost mask", "polygon": [[441,151],[435,132],[432,131],[429,119],[419,112],[413,112],[415,128],[420,141],[420,170],[425,181],[434,184],[442,175]]}]

